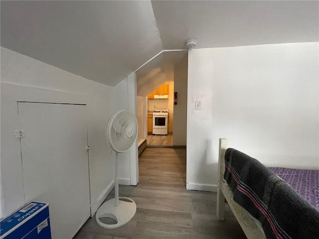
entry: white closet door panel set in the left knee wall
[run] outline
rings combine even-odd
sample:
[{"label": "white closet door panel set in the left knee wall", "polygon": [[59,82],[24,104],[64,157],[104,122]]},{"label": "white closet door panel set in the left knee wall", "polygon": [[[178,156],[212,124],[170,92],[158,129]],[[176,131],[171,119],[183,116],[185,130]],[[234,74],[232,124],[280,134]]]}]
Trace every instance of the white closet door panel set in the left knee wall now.
[{"label": "white closet door panel set in the left knee wall", "polygon": [[53,239],[71,239],[90,216],[86,106],[18,103],[26,202],[50,204]]}]

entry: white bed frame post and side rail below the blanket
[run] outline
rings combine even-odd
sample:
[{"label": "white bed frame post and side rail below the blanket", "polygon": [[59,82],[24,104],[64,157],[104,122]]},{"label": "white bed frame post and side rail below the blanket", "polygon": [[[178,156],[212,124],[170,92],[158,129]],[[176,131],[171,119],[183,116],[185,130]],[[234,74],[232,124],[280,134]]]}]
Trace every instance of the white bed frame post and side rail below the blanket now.
[{"label": "white bed frame post and side rail below the blanket", "polygon": [[227,149],[227,139],[219,138],[218,152],[218,184],[217,184],[217,208],[216,216],[218,220],[225,220],[225,199],[235,215],[239,225],[243,229],[248,239],[266,239],[259,222],[254,219],[243,207],[233,200],[233,192],[226,182],[224,182],[225,172],[225,152]]}]

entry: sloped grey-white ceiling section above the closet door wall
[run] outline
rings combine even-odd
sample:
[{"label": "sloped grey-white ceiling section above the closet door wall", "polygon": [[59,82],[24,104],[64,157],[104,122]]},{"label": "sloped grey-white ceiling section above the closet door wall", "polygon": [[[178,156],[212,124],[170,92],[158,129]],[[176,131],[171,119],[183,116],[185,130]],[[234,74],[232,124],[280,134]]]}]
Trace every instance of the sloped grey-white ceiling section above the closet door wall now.
[{"label": "sloped grey-white ceiling section above the closet door wall", "polygon": [[150,1],[1,1],[1,46],[110,86],[162,50]]}]

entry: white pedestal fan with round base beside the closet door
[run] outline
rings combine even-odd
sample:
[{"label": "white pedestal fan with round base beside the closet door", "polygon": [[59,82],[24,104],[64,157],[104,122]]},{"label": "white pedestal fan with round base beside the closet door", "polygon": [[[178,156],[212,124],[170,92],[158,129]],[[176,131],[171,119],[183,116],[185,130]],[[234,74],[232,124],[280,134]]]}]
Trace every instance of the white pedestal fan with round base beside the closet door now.
[{"label": "white pedestal fan with round base beside the closet door", "polygon": [[[130,222],[136,213],[136,203],[132,199],[119,197],[118,153],[128,151],[134,144],[137,134],[138,122],[129,110],[120,110],[109,120],[106,135],[115,151],[115,198],[102,204],[96,212],[96,222],[103,228],[121,227]],[[116,224],[102,223],[100,218],[111,218]]]}]

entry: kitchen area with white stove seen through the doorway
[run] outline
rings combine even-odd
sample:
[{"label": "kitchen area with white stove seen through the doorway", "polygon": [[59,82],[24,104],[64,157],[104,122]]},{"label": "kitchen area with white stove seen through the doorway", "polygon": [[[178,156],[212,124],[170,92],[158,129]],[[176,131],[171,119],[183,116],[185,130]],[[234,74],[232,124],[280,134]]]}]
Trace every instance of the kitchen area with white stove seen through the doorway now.
[{"label": "kitchen area with white stove seen through the doorway", "polygon": [[139,154],[186,147],[188,51],[165,51],[136,71]]}]

